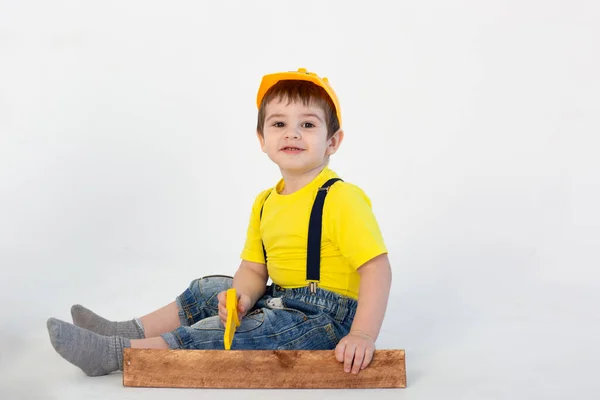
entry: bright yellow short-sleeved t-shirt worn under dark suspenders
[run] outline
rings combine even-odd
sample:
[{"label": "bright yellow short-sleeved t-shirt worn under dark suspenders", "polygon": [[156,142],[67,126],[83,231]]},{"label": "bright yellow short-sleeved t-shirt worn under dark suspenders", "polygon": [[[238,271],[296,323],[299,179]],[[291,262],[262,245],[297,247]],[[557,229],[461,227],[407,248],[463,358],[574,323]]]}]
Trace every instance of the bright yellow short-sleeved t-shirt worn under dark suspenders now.
[{"label": "bright yellow short-sleeved t-shirt worn under dark suspenders", "polygon": [[[283,288],[306,286],[308,224],[317,189],[338,177],[328,167],[302,189],[281,195],[283,180],[262,191],[250,215],[241,258],[265,263],[273,283]],[[264,202],[262,219],[260,209]],[[319,287],[358,299],[360,275],[357,269],[370,259],[386,253],[371,201],[357,186],[337,181],[325,197],[321,233],[321,279]]]}]

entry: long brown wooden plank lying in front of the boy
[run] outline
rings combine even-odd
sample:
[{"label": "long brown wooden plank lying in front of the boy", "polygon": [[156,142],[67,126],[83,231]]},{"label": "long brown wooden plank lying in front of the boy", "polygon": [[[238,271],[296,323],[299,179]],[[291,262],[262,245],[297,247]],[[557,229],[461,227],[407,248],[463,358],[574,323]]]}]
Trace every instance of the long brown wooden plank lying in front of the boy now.
[{"label": "long brown wooden plank lying in front of the boy", "polygon": [[404,350],[376,350],[357,375],[333,350],[124,349],[123,385],[162,388],[405,388]]}]

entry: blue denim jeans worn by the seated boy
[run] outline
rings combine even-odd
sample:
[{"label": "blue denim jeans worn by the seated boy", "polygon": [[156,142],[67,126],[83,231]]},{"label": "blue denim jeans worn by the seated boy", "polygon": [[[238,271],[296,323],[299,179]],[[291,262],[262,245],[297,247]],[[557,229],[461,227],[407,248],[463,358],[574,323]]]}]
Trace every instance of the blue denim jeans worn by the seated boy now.
[{"label": "blue denim jeans worn by the seated boy", "polygon": [[[233,279],[211,275],[191,282],[177,296],[181,326],[162,335],[171,349],[224,349],[225,327],[218,316],[217,295]],[[331,350],[350,331],[356,300],[317,288],[267,290],[242,318],[232,350]]]}]

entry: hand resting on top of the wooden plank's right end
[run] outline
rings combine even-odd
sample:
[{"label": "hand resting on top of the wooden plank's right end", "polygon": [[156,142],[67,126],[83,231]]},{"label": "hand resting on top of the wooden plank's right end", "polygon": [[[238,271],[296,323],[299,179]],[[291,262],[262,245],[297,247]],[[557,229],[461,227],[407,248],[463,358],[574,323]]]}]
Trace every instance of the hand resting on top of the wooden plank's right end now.
[{"label": "hand resting on top of the wooden plank's right end", "polygon": [[358,374],[373,359],[375,340],[362,332],[350,332],[335,348],[335,358],[344,363],[344,371]]}]

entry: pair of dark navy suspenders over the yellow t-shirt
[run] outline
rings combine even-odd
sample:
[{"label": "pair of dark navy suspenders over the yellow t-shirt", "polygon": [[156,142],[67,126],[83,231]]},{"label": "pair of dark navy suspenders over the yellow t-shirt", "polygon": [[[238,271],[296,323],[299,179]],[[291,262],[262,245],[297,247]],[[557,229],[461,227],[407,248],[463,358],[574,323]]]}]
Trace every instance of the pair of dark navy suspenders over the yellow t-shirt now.
[{"label": "pair of dark navy suspenders over the yellow t-shirt", "polygon": [[[311,293],[317,292],[317,284],[321,279],[321,233],[323,230],[323,207],[325,205],[325,196],[329,192],[331,185],[337,181],[342,181],[340,178],[331,178],[321,186],[317,191],[317,196],[313,203],[313,208],[310,213],[310,221],[308,224],[308,241],[306,246],[306,281],[310,287]],[[265,202],[271,192],[267,194],[260,208],[260,219],[265,206]],[[267,251],[265,243],[262,243],[263,254],[265,256],[265,264],[267,263]]]}]

